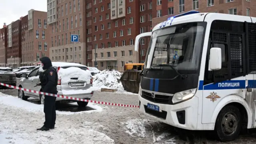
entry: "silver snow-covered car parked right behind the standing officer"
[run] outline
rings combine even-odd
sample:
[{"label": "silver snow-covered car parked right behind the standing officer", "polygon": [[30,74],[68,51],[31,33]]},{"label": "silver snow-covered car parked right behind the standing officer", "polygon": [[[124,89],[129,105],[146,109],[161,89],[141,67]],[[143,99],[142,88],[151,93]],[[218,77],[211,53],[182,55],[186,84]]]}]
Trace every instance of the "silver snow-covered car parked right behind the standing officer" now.
[{"label": "silver snow-covered car parked right behind the standing officer", "polygon": [[[82,64],[70,62],[52,62],[58,72],[57,90],[59,95],[71,96],[90,100],[93,96],[92,75],[88,68]],[[37,66],[29,74],[22,74],[19,87],[30,90],[42,91],[41,86],[36,86],[39,81],[39,75],[43,72],[42,66]],[[36,87],[34,87],[36,86]],[[18,96],[22,100],[28,97],[39,98],[40,103],[44,104],[44,95],[18,90]],[[77,102],[78,106],[85,107],[88,102],[68,100],[65,98],[56,98],[59,102]]]}]

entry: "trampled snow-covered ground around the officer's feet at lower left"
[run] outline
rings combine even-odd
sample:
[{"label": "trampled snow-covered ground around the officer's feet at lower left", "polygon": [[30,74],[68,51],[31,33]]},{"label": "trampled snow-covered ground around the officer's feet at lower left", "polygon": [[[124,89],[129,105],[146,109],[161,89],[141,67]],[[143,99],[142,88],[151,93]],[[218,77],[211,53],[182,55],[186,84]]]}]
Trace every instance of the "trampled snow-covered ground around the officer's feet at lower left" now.
[{"label": "trampled snow-covered ground around the officer's feet at lower left", "polygon": [[[102,108],[88,104],[101,112]],[[88,112],[60,112],[60,115],[90,114]],[[57,128],[47,132],[37,131],[44,121],[43,105],[20,100],[0,93],[0,144],[114,144],[114,140],[97,129],[103,126],[84,120],[77,124],[72,116],[58,120]],[[73,123],[72,123],[73,122]]]}]

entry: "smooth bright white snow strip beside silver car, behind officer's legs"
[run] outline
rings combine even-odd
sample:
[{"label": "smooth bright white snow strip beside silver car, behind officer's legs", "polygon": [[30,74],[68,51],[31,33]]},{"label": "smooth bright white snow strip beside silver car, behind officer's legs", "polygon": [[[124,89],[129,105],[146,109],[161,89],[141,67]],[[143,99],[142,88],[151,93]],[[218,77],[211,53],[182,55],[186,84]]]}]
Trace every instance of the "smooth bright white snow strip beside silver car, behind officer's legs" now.
[{"label": "smooth bright white snow strip beside silver car, behind officer's legs", "polygon": [[[11,106],[18,109],[23,109],[29,112],[44,112],[44,105],[43,104],[34,104],[25,100],[21,100],[20,98],[9,96],[0,92],[0,105],[4,104],[7,106]],[[83,111],[83,112],[66,112],[66,111],[58,111],[56,110],[56,114],[78,114],[78,113],[92,113],[92,112],[101,112],[102,108],[100,106],[94,105],[92,103],[88,103],[89,107],[95,110]]]}]

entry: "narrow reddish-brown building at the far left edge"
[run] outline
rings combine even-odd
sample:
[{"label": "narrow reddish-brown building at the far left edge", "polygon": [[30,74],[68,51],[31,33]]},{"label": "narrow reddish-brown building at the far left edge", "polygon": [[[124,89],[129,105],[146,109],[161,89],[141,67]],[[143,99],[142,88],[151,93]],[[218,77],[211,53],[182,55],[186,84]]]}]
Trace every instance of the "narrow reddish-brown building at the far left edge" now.
[{"label": "narrow reddish-brown building at the far left edge", "polygon": [[0,66],[5,67],[7,62],[7,26],[4,23],[3,28],[0,29]]}]

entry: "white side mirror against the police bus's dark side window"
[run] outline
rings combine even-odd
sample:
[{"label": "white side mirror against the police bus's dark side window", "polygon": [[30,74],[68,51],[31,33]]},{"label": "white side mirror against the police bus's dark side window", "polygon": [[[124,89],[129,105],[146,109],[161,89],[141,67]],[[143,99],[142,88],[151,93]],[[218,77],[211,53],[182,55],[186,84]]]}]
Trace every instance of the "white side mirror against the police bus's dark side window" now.
[{"label": "white side mirror against the police bus's dark side window", "polygon": [[221,48],[211,48],[209,70],[220,70],[221,63],[222,63]]}]

